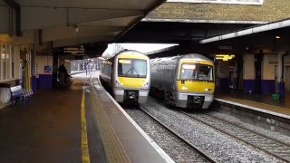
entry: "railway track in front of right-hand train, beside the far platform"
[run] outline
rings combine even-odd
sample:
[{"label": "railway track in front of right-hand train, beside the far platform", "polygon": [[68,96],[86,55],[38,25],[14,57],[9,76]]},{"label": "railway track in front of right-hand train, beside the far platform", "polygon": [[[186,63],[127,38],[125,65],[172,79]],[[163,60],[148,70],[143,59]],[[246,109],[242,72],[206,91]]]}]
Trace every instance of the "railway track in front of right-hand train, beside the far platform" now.
[{"label": "railway track in front of right-hand train, beside the far platform", "polygon": [[265,135],[259,134],[256,131],[238,126],[227,120],[222,120],[215,116],[211,116],[208,113],[192,114],[184,111],[180,112],[189,116],[190,119],[197,120],[208,125],[210,128],[217,129],[218,131],[227,134],[234,139],[243,141],[247,145],[266,152],[268,155],[284,162],[290,162],[289,144],[269,138]]}]

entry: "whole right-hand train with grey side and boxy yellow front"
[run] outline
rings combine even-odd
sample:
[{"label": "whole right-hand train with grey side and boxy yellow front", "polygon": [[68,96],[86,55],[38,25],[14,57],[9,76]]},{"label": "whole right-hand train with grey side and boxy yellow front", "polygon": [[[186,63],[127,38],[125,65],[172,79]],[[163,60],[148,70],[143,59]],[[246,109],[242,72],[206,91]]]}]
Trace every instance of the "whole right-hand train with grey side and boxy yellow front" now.
[{"label": "whole right-hand train with grey side and boxy yellow front", "polygon": [[150,94],[169,105],[208,109],[214,99],[214,62],[198,53],[150,60]]}]

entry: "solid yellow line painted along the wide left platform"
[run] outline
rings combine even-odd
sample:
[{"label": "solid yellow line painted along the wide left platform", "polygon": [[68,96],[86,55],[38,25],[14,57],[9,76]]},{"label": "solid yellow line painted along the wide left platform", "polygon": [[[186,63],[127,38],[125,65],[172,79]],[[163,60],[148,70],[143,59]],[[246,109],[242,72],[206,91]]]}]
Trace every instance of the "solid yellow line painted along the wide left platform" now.
[{"label": "solid yellow line painted along the wide left platform", "polygon": [[88,134],[87,134],[87,122],[85,120],[85,111],[84,111],[84,91],[82,91],[82,162],[90,163],[90,154],[88,148]]}]

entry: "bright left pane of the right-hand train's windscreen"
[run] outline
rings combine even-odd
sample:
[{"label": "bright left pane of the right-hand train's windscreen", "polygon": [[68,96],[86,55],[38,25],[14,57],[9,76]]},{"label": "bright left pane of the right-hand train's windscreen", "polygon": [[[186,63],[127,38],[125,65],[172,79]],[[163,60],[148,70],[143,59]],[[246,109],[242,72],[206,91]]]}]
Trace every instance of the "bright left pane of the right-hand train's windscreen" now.
[{"label": "bright left pane of the right-hand train's windscreen", "polygon": [[180,80],[197,80],[196,64],[182,64]]}]

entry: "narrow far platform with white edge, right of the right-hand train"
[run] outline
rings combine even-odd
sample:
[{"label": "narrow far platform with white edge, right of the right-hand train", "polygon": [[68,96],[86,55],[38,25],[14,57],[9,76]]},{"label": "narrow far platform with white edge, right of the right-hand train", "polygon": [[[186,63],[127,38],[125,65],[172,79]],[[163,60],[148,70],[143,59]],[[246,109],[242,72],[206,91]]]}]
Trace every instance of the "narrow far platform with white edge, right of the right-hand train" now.
[{"label": "narrow far platform with white edge, right of the right-hand train", "polygon": [[213,108],[226,111],[239,120],[254,123],[264,129],[288,134],[290,130],[290,96],[276,101],[271,95],[238,92],[216,93]]}]

